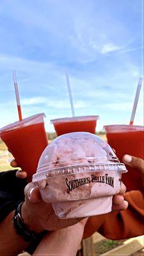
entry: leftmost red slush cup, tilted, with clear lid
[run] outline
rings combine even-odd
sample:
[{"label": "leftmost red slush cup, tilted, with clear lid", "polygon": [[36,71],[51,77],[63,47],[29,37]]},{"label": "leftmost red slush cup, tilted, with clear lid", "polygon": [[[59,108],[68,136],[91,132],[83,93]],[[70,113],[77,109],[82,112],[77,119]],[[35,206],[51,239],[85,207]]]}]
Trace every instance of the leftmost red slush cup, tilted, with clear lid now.
[{"label": "leftmost red slush cup, tilted, with clear lid", "polygon": [[1,140],[12,153],[18,166],[28,172],[29,180],[36,172],[40,156],[48,144],[44,116],[44,113],[30,116],[0,129]]}]

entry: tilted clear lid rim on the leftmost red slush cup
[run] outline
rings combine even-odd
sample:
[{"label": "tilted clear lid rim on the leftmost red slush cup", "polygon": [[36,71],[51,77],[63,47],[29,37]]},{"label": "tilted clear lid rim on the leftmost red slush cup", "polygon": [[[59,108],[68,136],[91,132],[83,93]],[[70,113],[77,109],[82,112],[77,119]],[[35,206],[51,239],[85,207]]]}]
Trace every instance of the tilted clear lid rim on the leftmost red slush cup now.
[{"label": "tilted clear lid rim on the leftmost red slush cup", "polygon": [[2,127],[0,129],[0,134],[3,133],[3,132],[13,131],[15,129],[21,129],[22,127],[25,127],[25,126],[29,125],[29,124],[27,124],[27,122],[30,122],[30,121],[32,121],[35,118],[38,118],[40,116],[42,116],[44,118],[46,115],[45,115],[45,113],[39,113],[39,114],[36,114],[36,115],[33,115],[33,116],[26,117],[22,121],[17,121],[17,122],[14,122],[12,124],[5,125],[4,127]]}]

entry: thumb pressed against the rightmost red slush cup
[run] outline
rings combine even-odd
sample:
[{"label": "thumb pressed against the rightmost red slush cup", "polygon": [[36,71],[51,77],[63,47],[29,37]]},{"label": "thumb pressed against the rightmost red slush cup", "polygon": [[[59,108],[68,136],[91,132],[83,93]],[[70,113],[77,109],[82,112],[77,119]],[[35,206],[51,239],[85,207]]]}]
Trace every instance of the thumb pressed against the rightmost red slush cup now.
[{"label": "thumb pressed against the rightmost red slush cup", "polygon": [[124,155],[122,157],[122,161],[127,164],[128,166],[131,166],[132,168],[136,168],[140,170],[140,172],[144,173],[144,161],[143,159],[139,157],[134,157],[130,155]]}]

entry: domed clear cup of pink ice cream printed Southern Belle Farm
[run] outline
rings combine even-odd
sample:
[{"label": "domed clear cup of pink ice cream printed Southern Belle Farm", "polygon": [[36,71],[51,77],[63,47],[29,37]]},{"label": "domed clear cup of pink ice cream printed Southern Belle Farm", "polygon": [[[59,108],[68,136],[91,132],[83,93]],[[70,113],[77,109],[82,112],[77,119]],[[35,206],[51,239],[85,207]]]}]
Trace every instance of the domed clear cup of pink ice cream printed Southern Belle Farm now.
[{"label": "domed clear cup of pink ice cream printed Southern Belle Farm", "polygon": [[33,182],[58,218],[80,218],[111,211],[125,165],[106,141],[89,132],[56,138],[40,157]]}]

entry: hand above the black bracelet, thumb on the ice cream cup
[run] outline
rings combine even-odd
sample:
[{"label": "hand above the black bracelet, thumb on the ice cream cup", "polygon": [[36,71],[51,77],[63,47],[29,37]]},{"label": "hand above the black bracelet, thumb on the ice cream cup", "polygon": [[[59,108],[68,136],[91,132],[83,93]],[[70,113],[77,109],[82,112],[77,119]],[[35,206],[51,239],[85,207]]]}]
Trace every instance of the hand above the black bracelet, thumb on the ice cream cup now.
[{"label": "hand above the black bracelet, thumb on the ice cream cup", "polygon": [[42,200],[39,189],[32,182],[26,186],[24,193],[25,202],[22,205],[22,218],[28,228],[35,232],[58,230],[83,220],[83,218],[58,219],[52,205]]}]

